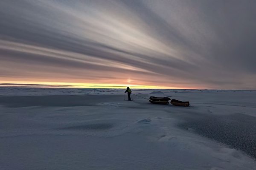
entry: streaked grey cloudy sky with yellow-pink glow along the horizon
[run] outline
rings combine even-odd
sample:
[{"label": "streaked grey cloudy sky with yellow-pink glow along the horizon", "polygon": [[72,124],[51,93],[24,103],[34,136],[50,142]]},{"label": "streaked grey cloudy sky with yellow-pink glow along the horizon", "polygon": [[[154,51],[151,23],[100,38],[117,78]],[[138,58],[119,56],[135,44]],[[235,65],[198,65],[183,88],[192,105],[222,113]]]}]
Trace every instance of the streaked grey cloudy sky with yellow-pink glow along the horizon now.
[{"label": "streaked grey cloudy sky with yellow-pink glow along the horizon", "polygon": [[255,0],[0,0],[0,86],[256,89]]}]

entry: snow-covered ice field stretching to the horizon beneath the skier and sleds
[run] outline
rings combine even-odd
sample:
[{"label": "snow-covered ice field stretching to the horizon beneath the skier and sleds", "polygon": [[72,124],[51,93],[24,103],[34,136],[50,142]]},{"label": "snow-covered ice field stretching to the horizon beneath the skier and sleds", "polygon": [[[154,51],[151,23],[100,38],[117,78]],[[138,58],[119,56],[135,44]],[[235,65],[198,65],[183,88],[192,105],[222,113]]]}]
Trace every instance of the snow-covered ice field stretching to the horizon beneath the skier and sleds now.
[{"label": "snow-covered ice field stretching to the horizon beneath the skier and sleds", "polygon": [[256,170],[256,91],[0,88],[0,170]]}]

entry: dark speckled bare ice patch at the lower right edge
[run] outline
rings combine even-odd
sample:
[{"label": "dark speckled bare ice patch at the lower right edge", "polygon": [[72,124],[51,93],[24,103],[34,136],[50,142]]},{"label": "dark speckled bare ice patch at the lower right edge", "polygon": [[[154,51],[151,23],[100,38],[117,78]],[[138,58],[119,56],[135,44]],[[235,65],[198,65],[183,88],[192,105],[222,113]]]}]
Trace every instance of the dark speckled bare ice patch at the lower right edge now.
[{"label": "dark speckled bare ice patch at the lower right edge", "polygon": [[178,126],[242,150],[256,158],[256,118],[253,116],[241,113],[204,115],[197,119],[186,119]]}]

